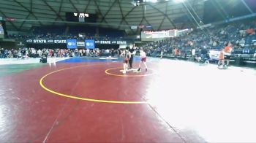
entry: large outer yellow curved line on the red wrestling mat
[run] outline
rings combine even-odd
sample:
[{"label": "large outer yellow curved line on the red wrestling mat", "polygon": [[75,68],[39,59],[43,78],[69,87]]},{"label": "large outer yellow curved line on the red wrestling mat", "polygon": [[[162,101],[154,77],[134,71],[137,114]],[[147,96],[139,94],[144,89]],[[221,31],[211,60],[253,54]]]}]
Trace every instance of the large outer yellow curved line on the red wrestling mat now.
[{"label": "large outer yellow curved line on the red wrestling mat", "polygon": [[[86,66],[93,66],[93,65],[86,65]],[[59,93],[57,91],[51,90],[50,88],[47,88],[43,84],[43,80],[45,79],[45,77],[48,77],[50,74],[54,74],[54,73],[57,73],[59,71],[64,71],[64,70],[68,70],[68,69],[75,69],[75,68],[79,68],[79,67],[83,67],[83,66],[74,66],[74,67],[70,67],[70,68],[66,68],[66,69],[59,69],[59,70],[56,70],[56,71],[52,71],[48,74],[45,74],[43,77],[41,77],[41,79],[39,80],[39,84],[43,89],[45,89],[48,92],[53,93],[57,96],[64,96],[64,97],[67,97],[67,98],[75,98],[75,99],[83,100],[83,101],[94,101],[94,102],[102,102],[102,103],[109,103],[109,104],[147,104],[146,101],[111,101],[111,100],[100,100],[100,99],[94,99],[94,98],[83,98],[83,97],[78,97],[78,96],[72,96],[72,95],[67,95],[65,93]]]}]

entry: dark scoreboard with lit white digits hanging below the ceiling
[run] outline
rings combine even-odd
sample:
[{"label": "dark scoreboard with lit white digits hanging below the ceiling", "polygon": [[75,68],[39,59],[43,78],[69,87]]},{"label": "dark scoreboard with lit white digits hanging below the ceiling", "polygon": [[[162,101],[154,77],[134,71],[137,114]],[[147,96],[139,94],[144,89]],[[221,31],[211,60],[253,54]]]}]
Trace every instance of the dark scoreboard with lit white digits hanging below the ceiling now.
[{"label": "dark scoreboard with lit white digits hanging below the ceiling", "polygon": [[96,23],[97,15],[83,12],[66,12],[66,20],[80,23]]}]

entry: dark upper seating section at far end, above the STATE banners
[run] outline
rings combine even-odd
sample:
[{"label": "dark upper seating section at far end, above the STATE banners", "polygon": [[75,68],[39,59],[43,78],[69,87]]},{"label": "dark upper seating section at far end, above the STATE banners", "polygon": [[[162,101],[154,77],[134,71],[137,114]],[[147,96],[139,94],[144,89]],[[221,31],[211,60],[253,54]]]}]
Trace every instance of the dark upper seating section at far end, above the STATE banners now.
[{"label": "dark upper seating section at far end, above the STATE banners", "polygon": [[[67,30],[68,29],[68,30]],[[24,39],[95,39],[95,40],[121,40],[124,34],[114,29],[102,28],[96,34],[95,27],[83,26],[57,26],[35,27],[29,35],[9,34],[8,38],[21,41]]]}]

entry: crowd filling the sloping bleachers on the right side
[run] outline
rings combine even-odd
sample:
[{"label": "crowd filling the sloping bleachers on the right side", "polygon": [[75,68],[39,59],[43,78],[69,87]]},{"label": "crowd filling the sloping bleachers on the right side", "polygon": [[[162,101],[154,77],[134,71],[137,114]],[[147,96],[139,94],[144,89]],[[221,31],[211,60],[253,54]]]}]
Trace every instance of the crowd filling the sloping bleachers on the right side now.
[{"label": "crowd filling the sloping bleachers on the right side", "polygon": [[[220,50],[231,42],[234,50],[256,48],[256,21],[246,23],[231,23],[211,28],[196,29],[189,34],[165,39],[144,45],[148,54],[182,55],[191,54],[192,48],[196,53],[201,49]],[[254,50],[252,50],[254,51]]]}]

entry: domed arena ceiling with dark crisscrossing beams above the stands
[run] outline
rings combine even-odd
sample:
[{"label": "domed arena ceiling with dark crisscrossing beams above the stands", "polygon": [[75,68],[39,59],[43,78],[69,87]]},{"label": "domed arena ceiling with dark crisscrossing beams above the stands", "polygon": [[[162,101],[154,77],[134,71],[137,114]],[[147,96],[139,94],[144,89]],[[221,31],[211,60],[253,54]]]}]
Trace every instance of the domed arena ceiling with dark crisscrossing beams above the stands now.
[{"label": "domed arena ceiling with dark crisscrossing beams above the stands", "polygon": [[195,20],[199,22],[203,17],[203,1],[162,0],[135,6],[132,0],[1,0],[0,16],[10,18],[6,22],[7,30],[10,31],[29,31],[32,26],[68,24],[65,12],[97,14],[97,23],[91,25],[127,32],[136,31],[130,26],[145,25],[157,31],[191,27],[191,22],[196,24]]}]

